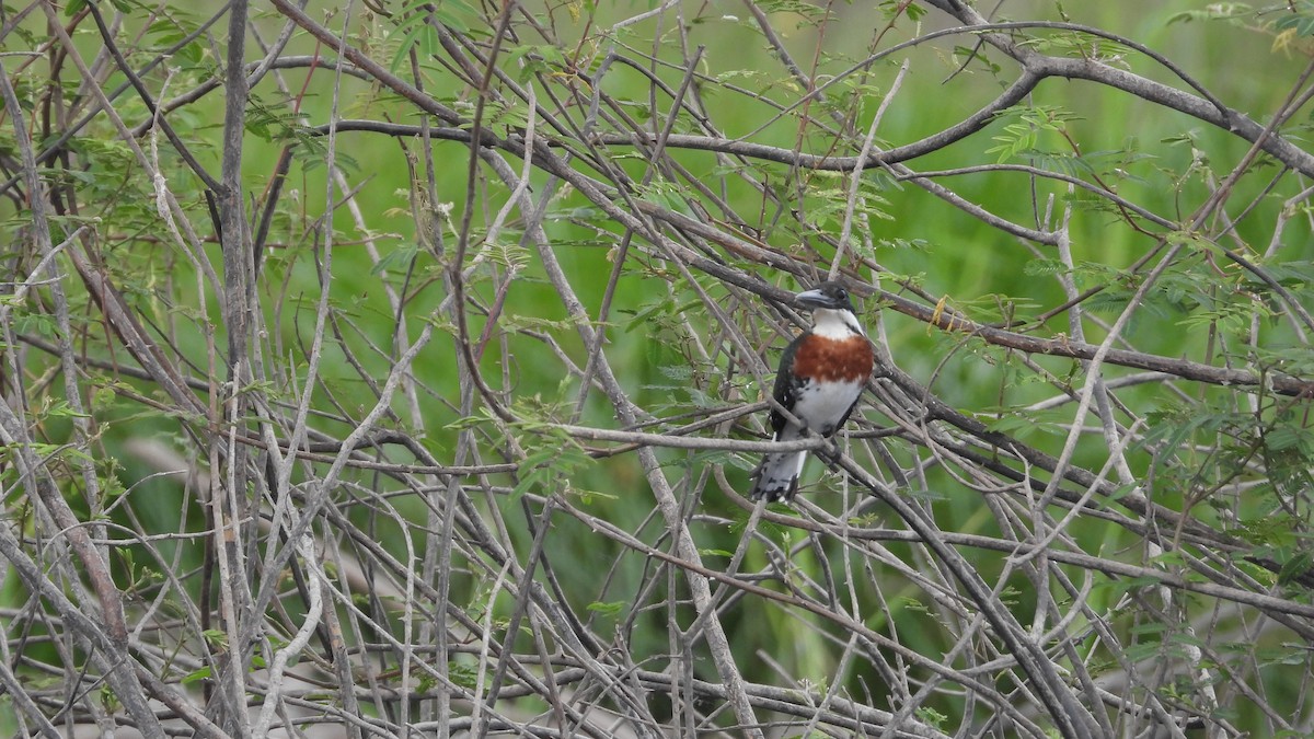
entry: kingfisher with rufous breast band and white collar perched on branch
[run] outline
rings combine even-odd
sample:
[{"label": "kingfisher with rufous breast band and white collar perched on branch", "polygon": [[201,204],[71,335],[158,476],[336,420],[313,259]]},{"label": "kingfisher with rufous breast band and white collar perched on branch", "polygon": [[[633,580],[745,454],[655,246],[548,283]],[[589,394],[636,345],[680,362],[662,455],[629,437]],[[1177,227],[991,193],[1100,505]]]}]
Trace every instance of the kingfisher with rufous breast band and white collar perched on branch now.
[{"label": "kingfisher with rufous breast band and white collar perched on branch", "polygon": [[[808,433],[833,437],[858,405],[875,362],[871,342],[858,323],[844,285],[821,283],[796,295],[795,301],[812,310],[812,327],[786,347],[771,394],[802,425],[773,408],[770,421],[777,442],[799,439]],[[753,472],[749,497],[767,502],[792,498],[807,454],[767,454]]]}]

